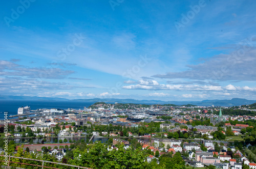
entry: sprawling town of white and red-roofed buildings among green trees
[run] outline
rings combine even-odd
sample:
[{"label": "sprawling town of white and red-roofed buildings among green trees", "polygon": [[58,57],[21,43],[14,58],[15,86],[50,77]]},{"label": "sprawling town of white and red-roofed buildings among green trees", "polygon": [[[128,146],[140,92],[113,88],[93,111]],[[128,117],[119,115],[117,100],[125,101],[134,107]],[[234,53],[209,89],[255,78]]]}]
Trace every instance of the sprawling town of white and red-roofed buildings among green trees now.
[{"label": "sprawling town of white and red-roofed buildings among green trees", "polygon": [[[106,152],[142,153],[143,163],[149,168],[167,167],[172,160],[166,159],[175,155],[182,158],[180,165],[187,168],[256,168],[255,105],[97,102],[83,110],[37,109],[38,116],[25,114],[10,119],[9,132],[1,137],[8,137],[9,152],[14,156],[44,153],[62,163],[79,163],[83,149],[76,148],[81,145],[88,147],[90,153],[95,146],[104,144]],[[4,121],[0,132],[4,132]],[[5,146],[2,138],[1,148]],[[90,162],[81,166],[101,168]]]}]

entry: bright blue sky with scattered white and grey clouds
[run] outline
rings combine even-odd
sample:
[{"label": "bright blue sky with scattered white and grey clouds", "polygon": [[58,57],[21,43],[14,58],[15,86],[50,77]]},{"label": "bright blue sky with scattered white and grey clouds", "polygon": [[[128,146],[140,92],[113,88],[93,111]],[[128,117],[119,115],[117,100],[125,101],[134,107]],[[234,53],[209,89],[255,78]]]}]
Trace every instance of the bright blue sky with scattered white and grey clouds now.
[{"label": "bright blue sky with scattered white and grey clouds", "polygon": [[256,100],[256,2],[0,2],[0,95]]}]

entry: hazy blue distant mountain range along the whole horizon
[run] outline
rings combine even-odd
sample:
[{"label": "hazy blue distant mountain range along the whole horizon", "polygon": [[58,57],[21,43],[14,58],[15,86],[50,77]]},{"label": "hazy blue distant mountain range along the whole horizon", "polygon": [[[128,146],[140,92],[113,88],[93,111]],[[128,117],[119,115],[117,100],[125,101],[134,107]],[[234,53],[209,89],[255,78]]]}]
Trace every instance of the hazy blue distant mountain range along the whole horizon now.
[{"label": "hazy blue distant mountain range along the whole horizon", "polygon": [[162,101],[162,100],[136,100],[136,99],[75,99],[69,100],[58,97],[30,97],[30,96],[7,96],[0,95],[0,100],[52,100],[52,101],[84,101],[84,102],[106,102],[106,103],[137,103],[137,104],[175,104],[185,105],[193,104],[198,106],[238,106],[256,103],[256,100],[247,100],[241,98],[232,98],[231,100],[203,100],[203,101]]}]

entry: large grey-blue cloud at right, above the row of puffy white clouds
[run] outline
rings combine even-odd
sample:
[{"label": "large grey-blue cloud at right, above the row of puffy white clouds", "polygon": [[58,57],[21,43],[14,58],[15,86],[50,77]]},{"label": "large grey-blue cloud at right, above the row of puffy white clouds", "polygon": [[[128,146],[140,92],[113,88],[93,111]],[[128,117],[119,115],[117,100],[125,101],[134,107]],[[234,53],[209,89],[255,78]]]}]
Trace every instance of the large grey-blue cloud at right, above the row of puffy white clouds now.
[{"label": "large grey-blue cloud at right, above the row of puffy white clouds", "polygon": [[[256,80],[256,50],[243,53],[219,54],[204,63],[187,65],[188,70],[182,72],[168,72],[152,77],[166,79],[196,79],[196,80]],[[246,65],[246,66],[245,66]]]}]

